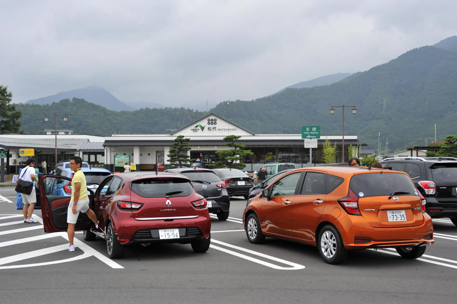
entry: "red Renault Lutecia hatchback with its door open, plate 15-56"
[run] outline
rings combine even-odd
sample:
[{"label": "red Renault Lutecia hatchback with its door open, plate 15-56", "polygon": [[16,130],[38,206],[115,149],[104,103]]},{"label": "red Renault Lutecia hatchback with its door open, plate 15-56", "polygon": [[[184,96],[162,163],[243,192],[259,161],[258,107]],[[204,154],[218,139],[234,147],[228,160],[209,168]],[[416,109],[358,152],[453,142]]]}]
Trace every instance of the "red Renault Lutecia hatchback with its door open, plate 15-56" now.
[{"label": "red Renault Lutecia hatchback with its door open, plate 15-56", "polygon": [[[63,176],[40,177],[40,194],[45,232],[67,230],[70,195],[58,191],[71,187]],[[81,214],[76,231],[84,231],[86,241],[96,235],[106,240],[110,258],[121,258],[125,245],[138,243],[190,243],[195,252],[206,252],[211,242],[211,219],[207,202],[191,181],[169,172],[129,172],[113,174],[90,192],[90,208],[99,228]]]}]

